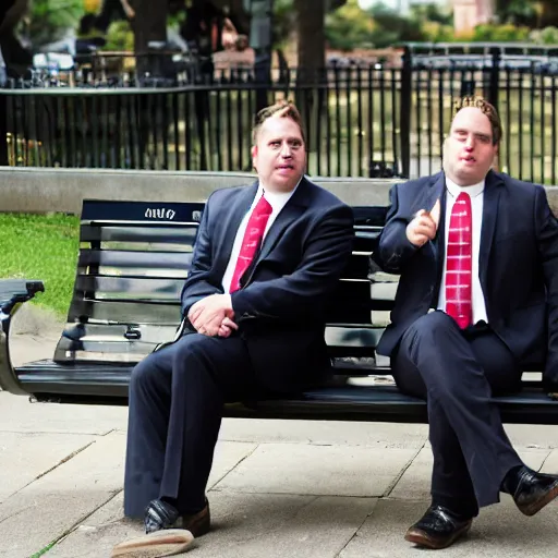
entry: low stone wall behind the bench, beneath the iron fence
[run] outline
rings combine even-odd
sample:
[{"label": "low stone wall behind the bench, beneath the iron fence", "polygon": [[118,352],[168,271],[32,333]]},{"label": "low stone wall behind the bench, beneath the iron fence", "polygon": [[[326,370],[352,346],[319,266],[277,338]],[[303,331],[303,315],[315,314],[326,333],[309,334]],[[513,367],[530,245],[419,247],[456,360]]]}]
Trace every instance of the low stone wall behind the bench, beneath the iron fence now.
[{"label": "low stone wall behind the bench, beneath the iron fence", "polygon": [[[170,172],[98,169],[33,169],[0,167],[0,211],[80,215],[83,199],[205,202],[220,187],[251,184],[246,172]],[[397,180],[313,178],[352,206],[387,205]],[[547,186],[558,215],[558,187]]]}]

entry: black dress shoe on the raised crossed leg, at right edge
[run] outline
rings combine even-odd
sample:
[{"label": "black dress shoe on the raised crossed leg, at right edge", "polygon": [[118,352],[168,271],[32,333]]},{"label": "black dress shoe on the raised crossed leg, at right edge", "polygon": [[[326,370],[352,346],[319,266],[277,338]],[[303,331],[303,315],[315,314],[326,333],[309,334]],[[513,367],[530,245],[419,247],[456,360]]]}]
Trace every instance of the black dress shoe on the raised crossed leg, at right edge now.
[{"label": "black dress shoe on the raised crossed leg, at right edge", "polygon": [[521,513],[534,515],[558,496],[558,476],[537,473],[526,466],[514,472],[513,501]]}]

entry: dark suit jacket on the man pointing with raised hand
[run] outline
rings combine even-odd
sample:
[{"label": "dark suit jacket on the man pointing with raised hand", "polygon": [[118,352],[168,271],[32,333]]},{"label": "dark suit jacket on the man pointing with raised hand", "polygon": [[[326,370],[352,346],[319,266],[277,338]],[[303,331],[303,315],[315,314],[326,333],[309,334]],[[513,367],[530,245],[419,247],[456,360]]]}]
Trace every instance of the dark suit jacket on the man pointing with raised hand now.
[{"label": "dark suit jacket on the man pointing with raised hand", "polygon": [[[405,329],[436,307],[445,258],[444,228],[421,248],[405,235],[418,209],[442,198],[446,177],[396,184],[374,254],[386,271],[400,274],[391,324],[378,344],[390,355]],[[440,223],[445,222],[445,204]],[[543,186],[490,171],[486,177],[480,246],[480,280],[488,323],[521,365],[545,363],[548,388],[558,386],[558,223]]]}]

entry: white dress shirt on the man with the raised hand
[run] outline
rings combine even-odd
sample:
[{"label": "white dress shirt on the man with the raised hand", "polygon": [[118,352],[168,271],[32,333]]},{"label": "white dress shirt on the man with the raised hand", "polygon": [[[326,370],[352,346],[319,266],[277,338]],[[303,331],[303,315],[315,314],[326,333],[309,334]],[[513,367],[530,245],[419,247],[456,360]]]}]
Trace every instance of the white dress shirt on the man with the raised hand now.
[{"label": "white dress shirt on the man with the raised hand", "polygon": [[481,228],[483,226],[483,203],[484,203],[484,180],[472,186],[461,187],[446,177],[446,226],[445,226],[445,247],[444,269],[441,272],[440,292],[438,296],[438,310],[446,312],[446,270],[448,267],[448,236],[451,210],[457,197],[461,192],[466,192],[471,196],[471,210],[473,213],[473,253],[472,253],[472,280],[473,280],[473,324],[481,319],[488,323],[486,315],[486,304],[484,301],[483,289],[478,278],[478,253],[481,250]]}]

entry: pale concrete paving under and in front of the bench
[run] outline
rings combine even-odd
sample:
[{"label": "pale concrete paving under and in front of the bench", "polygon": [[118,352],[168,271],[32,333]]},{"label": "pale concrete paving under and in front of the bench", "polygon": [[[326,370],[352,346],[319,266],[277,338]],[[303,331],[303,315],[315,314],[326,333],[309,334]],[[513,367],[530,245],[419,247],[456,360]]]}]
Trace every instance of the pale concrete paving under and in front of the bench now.
[{"label": "pale concrete paving under and in front of the bench", "polygon": [[[54,338],[14,337],[15,361]],[[0,557],[101,558],[141,534],[122,515],[126,409],[32,403],[0,392]],[[508,426],[523,459],[558,472],[558,428]],[[418,556],[403,539],[428,502],[425,425],[226,420],[193,558]],[[558,502],[523,517],[506,497],[448,557],[556,555]],[[184,555],[184,556],[186,556]]]}]

